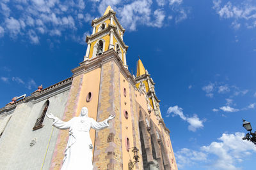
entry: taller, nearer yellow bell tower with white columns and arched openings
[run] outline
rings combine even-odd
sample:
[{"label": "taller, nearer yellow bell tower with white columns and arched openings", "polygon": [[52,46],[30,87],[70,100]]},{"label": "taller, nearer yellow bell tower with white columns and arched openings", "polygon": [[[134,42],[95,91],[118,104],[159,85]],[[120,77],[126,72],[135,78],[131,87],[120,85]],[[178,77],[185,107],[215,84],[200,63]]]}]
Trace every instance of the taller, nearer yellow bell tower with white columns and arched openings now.
[{"label": "taller, nearer yellow bell tower with white columns and arched openings", "polygon": [[84,61],[94,59],[113,48],[127,68],[126,52],[128,46],[123,41],[125,29],[118,22],[115,11],[108,6],[102,17],[92,21],[92,27],[92,35],[86,36],[88,46]]}]

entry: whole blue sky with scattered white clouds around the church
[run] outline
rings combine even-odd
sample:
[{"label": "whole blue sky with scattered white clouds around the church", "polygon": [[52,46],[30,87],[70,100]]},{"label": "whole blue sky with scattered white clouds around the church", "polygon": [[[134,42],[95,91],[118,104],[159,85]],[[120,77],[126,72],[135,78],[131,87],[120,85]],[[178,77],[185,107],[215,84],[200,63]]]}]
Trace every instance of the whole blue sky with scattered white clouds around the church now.
[{"label": "whole blue sky with scattered white clouds around the church", "polygon": [[156,82],[179,169],[253,169],[256,147],[255,1],[0,2],[0,105],[72,75],[91,21],[108,5],[126,29],[127,64],[138,55]]}]

